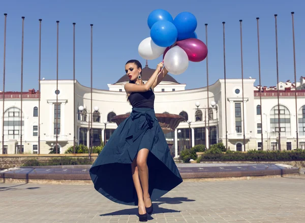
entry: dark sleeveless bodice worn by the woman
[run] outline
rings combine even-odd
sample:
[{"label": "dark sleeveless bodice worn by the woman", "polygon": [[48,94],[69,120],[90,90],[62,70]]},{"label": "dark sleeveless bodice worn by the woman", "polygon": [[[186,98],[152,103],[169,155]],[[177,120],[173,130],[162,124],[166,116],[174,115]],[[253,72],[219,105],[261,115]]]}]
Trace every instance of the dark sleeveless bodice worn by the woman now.
[{"label": "dark sleeveless bodice worn by the woman", "polygon": [[128,99],[132,107],[154,108],[155,94],[151,89],[145,92],[132,92]]}]

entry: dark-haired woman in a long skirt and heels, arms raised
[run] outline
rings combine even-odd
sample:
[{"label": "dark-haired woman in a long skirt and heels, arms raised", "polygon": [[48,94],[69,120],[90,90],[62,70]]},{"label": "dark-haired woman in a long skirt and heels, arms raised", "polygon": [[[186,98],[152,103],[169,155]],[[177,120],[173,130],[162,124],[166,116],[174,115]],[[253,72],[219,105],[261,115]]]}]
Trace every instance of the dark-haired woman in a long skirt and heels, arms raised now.
[{"label": "dark-haired woman in a long skirt and heels, arms raised", "polygon": [[131,115],[122,122],[90,168],[95,189],[120,204],[138,205],[140,221],[147,221],[154,201],[182,182],[155,116],[153,89],[167,75],[163,63],[144,84],[142,65],[125,65],[130,81],[125,85]]}]

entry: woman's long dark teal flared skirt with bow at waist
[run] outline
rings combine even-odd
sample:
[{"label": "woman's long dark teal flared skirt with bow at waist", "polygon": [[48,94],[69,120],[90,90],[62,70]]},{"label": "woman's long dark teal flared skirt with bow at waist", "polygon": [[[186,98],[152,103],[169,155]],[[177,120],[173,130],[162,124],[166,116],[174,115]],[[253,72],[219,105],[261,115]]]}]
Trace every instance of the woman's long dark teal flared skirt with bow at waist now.
[{"label": "woman's long dark teal flared skirt with bow at waist", "polygon": [[149,150],[148,184],[151,201],[182,182],[153,108],[133,108],[111,135],[90,168],[95,189],[113,202],[138,205],[131,163],[141,148]]}]

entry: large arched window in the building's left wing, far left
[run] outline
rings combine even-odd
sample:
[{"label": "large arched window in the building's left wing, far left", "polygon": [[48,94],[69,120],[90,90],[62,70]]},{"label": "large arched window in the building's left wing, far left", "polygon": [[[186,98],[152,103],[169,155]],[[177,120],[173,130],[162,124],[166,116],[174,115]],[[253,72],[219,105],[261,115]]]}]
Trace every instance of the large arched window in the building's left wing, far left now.
[{"label": "large arched window in the building's left wing, far left", "polygon": [[[21,110],[17,107],[8,108],[4,113],[4,135],[6,139],[19,139],[20,124],[24,126],[24,119],[21,123]],[[24,127],[22,128],[22,135],[24,135]]]}]

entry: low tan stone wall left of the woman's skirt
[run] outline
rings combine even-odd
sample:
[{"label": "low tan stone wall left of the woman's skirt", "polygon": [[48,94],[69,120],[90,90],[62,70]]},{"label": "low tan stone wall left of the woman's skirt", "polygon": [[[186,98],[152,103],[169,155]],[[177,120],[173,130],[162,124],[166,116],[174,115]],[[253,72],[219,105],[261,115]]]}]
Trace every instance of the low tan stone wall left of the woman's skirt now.
[{"label": "low tan stone wall left of the woman's skirt", "polygon": [[[27,160],[36,159],[39,161],[47,161],[53,158],[88,158],[88,154],[1,154],[0,155],[0,169],[11,167],[20,167]],[[98,154],[91,154],[91,158],[95,161]]]}]

